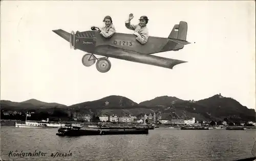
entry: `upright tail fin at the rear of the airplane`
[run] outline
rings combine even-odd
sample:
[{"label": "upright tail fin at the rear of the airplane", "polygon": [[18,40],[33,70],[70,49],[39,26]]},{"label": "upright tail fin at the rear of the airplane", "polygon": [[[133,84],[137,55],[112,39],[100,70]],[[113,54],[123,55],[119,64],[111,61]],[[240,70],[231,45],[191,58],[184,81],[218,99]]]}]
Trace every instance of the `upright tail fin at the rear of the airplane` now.
[{"label": "upright tail fin at the rear of the airplane", "polygon": [[172,32],[170,32],[170,35],[168,36],[168,39],[178,41],[178,43],[181,43],[183,45],[189,44],[189,42],[186,41],[187,22],[180,21],[180,24],[175,24]]}]

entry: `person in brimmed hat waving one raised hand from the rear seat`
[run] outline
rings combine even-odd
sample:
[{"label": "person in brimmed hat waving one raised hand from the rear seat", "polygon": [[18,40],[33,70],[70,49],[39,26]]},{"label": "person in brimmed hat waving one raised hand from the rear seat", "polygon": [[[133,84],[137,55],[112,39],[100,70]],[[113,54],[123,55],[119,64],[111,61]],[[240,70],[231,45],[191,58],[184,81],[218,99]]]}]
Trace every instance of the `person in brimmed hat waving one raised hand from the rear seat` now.
[{"label": "person in brimmed hat waving one raised hand from the rear seat", "polygon": [[133,14],[131,13],[129,15],[129,19],[125,21],[125,26],[127,29],[134,30],[134,35],[136,35],[136,40],[139,41],[141,44],[145,44],[147,42],[147,39],[149,37],[148,29],[147,29],[147,22],[148,18],[147,16],[141,16],[140,22],[138,24],[131,24],[131,20],[133,19]]}]

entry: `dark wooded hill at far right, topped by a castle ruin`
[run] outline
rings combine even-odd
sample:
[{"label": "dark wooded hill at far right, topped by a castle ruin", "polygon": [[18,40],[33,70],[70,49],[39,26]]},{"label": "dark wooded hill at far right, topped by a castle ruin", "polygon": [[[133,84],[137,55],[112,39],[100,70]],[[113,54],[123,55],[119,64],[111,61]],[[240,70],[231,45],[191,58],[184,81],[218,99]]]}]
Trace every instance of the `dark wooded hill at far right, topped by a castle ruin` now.
[{"label": "dark wooded hill at far right, topped by a castle ruin", "polygon": [[196,117],[198,120],[223,120],[233,118],[238,120],[255,120],[255,110],[248,109],[237,100],[221,95],[198,100],[179,101],[167,108],[164,113],[170,113],[168,118],[187,119]]}]

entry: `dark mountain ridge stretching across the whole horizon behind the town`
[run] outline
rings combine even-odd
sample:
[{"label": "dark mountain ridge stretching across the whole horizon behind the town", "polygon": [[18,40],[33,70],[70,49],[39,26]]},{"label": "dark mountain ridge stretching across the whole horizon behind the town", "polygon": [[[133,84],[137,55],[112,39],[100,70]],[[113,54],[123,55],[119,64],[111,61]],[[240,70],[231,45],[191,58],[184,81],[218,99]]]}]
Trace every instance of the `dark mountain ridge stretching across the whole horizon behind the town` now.
[{"label": "dark mountain ridge stretching across the whole horizon behind the town", "polygon": [[[140,115],[145,113],[161,112],[165,119],[188,119],[197,117],[198,119],[223,119],[227,117],[237,119],[255,120],[255,110],[248,109],[240,102],[230,97],[223,97],[216,94],[209,98],[198,101],[183,100],[173,96],[159,96],[151,100],[141,101],[140,103],[119,96],[110,95],[93,101],[85,101],[72,105],[59,103],[47,103],[36,99],[29,99],[23,102],[12,102],[1,100],[1,109],[21,110],[25,109],[46,109],[59,108],[62,111],[75,111],[80,113],[94,113],[96,115]],[[33,106],[34,105],[34,106]]]}]

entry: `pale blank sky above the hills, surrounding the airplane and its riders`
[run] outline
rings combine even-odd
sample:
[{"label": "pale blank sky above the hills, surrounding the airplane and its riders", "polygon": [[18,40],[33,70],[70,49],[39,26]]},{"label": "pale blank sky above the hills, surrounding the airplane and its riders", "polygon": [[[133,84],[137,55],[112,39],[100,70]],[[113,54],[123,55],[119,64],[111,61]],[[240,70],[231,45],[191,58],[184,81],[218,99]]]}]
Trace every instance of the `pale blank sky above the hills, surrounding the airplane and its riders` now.
[{"label": "pale blank sky above the hills, surrounding the airplane and its riders", "polygon": [[[255,109],[254,1],[1,1],[0,11],[1,100],[71,105],[120,95],[139,103],[221,93]],[[132,34],[124,25],[130,13],[133,24],[150,19],[150,36],[167,38],[186,21],[191,44],[155,55],[187,63],[167,69],[110,58],[111,70],[100,73],[52,32],[88,31],[110,15],[116,32]]]}]

